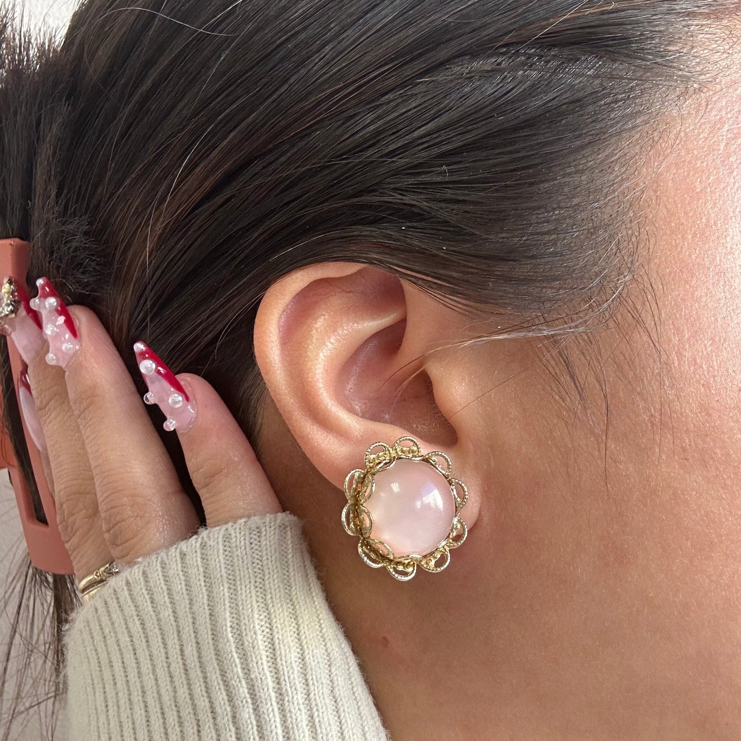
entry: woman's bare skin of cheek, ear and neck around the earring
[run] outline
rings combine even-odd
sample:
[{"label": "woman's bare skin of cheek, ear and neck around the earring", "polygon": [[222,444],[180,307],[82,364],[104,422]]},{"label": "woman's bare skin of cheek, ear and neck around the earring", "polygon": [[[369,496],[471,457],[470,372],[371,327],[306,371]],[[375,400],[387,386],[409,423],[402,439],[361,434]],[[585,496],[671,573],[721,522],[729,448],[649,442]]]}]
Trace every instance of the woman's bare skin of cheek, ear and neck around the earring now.
[{"label": "woman's bare skin of cheek, ear and neck around the earring", "polygon": [[[496,322],[376,268],[302,268],[263,299],[262,460],[382,708],[390,672],[444,674],[519,731],[741,727],[741,73],[665,124],[634,285],[586,349],[566,345],[581,403],[545,340],[430,352]],[[399,591],[339,512],[365,448],[407,434],[451,457],[471,534]]]}]

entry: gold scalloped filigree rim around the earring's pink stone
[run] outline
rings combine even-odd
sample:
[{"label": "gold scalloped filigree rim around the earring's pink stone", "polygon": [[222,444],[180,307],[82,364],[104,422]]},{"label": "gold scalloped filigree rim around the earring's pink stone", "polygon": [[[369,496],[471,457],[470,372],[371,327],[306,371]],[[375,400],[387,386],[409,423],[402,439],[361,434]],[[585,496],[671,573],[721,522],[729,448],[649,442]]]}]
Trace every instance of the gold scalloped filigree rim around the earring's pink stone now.
[{"label": "gold scalloped filigree rim around the earring's pink stone", "polygon": [[[408,443],[405,445],[404,443]],[[374,476],[400,458],[422,461],[442,473],[456,503],[456,514],[453,517],[448,536],[437,548],[428,554],[411,556],[394,556],[385,542],[371,538],[373,517],[365,507],[365,502],[373,495]],[[451,562],[451,548],[458,548],[466,539],[468,528],[460,517],[460,511],[468,501],[468,489],[459,479],[453,478],[451,459],[440,451],[422,453],[419,442],[413,437],[400,437],[393,445],[385,442],[374,442],[365,451],[365,468],[354,468],[345,477],[345,496],[348,503],[342,510],[342,526],[345,532],[359,538],[358,553],[372,568],[386,568],[394,579],[406,582],[411,579],[420,566],[433,574],[442,571]]]}]

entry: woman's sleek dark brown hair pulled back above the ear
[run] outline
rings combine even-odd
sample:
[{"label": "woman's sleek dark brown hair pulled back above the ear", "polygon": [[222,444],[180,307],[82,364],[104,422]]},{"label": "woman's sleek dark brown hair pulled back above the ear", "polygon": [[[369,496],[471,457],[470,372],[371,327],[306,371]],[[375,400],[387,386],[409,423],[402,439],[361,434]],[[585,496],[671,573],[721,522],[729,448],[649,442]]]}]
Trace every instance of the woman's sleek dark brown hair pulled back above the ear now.
[{"label": "woman's sleek dark brown hair pulled back above the ear", "polygon": [[[599,321],[634,266],[648,124],[720,4],[129,5],[86,0],[63,38],[0,11],[0,237],[32,242],[29,284],[95,310],[137,383],[140,338],[205,376],[259,453],[253,319],[294,268],[367,262],[523,331]],[[59,639],[70,585],[30,568],[19,583],[39,581]]]}]

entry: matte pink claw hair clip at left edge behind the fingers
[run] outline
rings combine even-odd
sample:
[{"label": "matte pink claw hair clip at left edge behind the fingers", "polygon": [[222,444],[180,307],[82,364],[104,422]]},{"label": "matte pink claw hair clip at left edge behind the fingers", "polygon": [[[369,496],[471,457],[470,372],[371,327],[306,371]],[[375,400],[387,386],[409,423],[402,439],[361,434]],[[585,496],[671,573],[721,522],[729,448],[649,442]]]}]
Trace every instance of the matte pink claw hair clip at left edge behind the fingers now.
[{"label": "matte pink claw hair clip at left edge behind the fingers", "polygon": [[[29,250],[29,243],[22,239],[0,239],[0,271],[4,276],[0,289],[0,332],[5,335],[13,333],[13,342],[7,343],[7,351],[19,408],[23,408],[26,403],[24,393],[28,393],[24,381],[24,361],[33,357],[43,342],[41,319],[36,310],[31,308],[25,285]],[[21,356],[21,353],[25,357]],[[50,574],[73,574],[70,554],[64,548],[62,536],[56,525],[54,497],[41,467],[39,448],[34,442],[34,439],[39,440],[39,431],[31,431],[28,428],[23,414],[21,421],[46,523],[36,518],[31,493],[13,454],[10,437],[4,429],[0,439],[0,467],[7,468],[10,473],[10,482],[16,494],[31,563]]]}]

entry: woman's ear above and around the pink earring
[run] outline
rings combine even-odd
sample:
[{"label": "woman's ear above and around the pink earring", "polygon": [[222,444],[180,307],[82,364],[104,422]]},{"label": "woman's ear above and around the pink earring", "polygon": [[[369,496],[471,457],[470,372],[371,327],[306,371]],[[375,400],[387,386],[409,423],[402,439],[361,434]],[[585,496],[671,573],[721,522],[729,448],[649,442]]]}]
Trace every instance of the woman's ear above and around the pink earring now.
[{"label": "woman's ear above and around the pink earring", "polygon": [[459,325],[451,308],[386,270],[322,262],[266,291],[255,355],[290,433],[325,479],[342,489],[369,445],[411,435],[423,451],[451,458],[453,475],[468,486],[462,516],[472,525],[480,489],[465,456],[473,448],[456,428],[465,422],[441,411],[459,408],[467,374],[456,373],[455,362],[425,365],[424,357],[459,339]]}]

